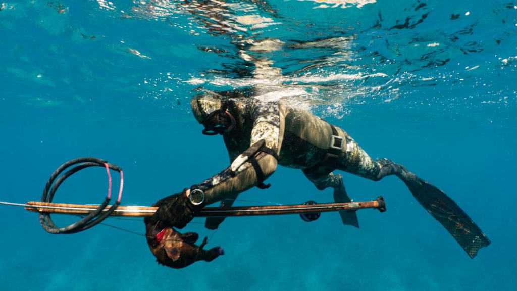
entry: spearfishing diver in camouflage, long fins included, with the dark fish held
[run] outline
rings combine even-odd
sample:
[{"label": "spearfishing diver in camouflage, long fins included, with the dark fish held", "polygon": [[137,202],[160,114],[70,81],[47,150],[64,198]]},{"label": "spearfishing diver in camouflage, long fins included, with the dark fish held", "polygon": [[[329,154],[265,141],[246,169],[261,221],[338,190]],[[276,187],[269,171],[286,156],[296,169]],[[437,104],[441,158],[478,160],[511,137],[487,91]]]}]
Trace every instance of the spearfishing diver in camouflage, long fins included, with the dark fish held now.
[{"label": "spearfishing diver in camouflage, long fins included, with the dark fish held", "polygon": [[[224,94],[224,96],[228,96]],[[230,94],[231,96],[231,94]],[[205,135],[222,135],[230,156],[230,166],[182,192],[158,200],[158,210],[144,220],[149,248],[159,264],[181,268],[197,260],[210,261],[224,254],[222,249],[207,251],[182,237],[181,247],[165,248],[159,234],[163,229],[184,228],[203,207],[221,201],[230,207],[237,196],[252,187],[269,188],[265,180],[278,165],[301,169],[318,190],[333,189],[334,201],[349,202],[341,170],[379,181],[395,175],[438,222],[474,258],[490,240],[468,215],[444,192],[418,178],[403,165],[390,159],[376,161],[359,147],[345,130],[307,110],[290,106],[286,99],[229,98],[217,93],[196,96],[190,105]],[[343,224],[359,227],[355,211],[340,211]],[[301,215],[305,221],[319,215]],[[205,227],[217,229],[225,217],[208,217]],[[189,234],[187,238],[192,237]],[[172,251],[171,251],[172,250]]]}]

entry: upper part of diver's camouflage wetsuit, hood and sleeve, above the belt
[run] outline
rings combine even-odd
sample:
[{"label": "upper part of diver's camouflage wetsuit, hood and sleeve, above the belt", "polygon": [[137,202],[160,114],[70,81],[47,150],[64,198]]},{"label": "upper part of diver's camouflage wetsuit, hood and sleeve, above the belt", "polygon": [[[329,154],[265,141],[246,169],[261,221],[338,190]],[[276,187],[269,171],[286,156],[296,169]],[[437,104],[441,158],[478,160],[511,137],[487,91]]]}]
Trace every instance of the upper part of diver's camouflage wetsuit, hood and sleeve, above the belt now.
[{"label": "upper part of diver's camouflage wetsuit, hood and sleeve, above the belt", "polygon": [[[196,120],[205,123],[207,116],[221,108],[221,99],[211,96],[194,97],[191,107]],[[215,176],[192,186],[205,192],[207,204],[239,193],[257,185],[259,178],[269,177],[279,163],[282,166],[306,169],[314,166],[325,156],[332,136],[330,124],[308,111],[289,108],[282,101],[263,102],[252,98],[236,99],[226,109],[237,122],[236,128],[224,133],[223,139],[232,165]],[[346,133],[337,128],[339,136]],[[253,154],[256,166],[250,158],[243,158],[250,147],[264,140],[271,151],[259,150]],[[263,149],[263,148],[262,148]],[[249,151],[249,150],[248,150]],[[260,177],[262,176],[262,177]]]}]

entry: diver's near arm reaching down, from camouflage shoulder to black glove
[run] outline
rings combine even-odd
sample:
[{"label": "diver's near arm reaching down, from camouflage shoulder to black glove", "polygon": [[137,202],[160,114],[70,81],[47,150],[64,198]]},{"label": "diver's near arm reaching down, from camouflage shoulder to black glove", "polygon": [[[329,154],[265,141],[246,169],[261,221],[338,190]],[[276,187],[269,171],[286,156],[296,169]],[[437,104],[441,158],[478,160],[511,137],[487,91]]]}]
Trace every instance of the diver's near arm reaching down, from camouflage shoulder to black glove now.
[{"label": "diver's near arm reaching down, from camouflage shoulder to black glove", "polygon": [[[164,226],[183,228],[205,205],[236,196],[254,186],[267,188],[263,181],[276,170],[282,143],[282,108],[278,102],[257,102],[251,108],[251,146],[237,156],[230,167],[215,176],[181,193],[160,199],[155,205],[159,207],[158,210],[146,223],[159,221]],[[196,197],[202,193],[202,201],[192,205],[190,201],[193,196],[186,197],[189,193],[198,193]]]}]

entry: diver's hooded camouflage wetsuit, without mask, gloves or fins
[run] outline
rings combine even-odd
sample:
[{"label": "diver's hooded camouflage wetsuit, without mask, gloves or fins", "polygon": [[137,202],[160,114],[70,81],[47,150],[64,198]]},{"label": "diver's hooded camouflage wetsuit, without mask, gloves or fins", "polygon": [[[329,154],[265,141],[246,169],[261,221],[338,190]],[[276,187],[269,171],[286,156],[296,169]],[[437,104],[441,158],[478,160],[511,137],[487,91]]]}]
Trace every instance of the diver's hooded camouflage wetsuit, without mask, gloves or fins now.
[{"label": "diver's hooded camouflage wetsuit, without mask, gloves or fins", "polygon": [[[211,96],[192,98],[196,120],[206,126],[208,115],[219,110],[222,102]],[[308,111],[288,107],[282,101],[250,98],[232,103],[226,111],[236,117],[237,126],[223,134],[232,165],[192,187],[205,192],[207,204],[235,198],[256,185],[264,186],[261,180],[269,177],[277,164],[302,169],[320,190],[338,187],[341,177],[332,173],[334,169],[375,181],[399,170],[399,165],[388,159],[374,161],[343,129]],[[250,158],[243,159],[250,153]],[[230,206],[231,201],[222,205]]]}]

